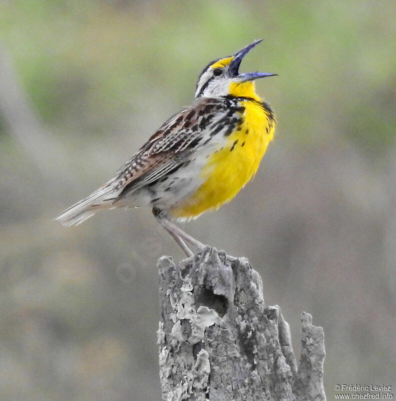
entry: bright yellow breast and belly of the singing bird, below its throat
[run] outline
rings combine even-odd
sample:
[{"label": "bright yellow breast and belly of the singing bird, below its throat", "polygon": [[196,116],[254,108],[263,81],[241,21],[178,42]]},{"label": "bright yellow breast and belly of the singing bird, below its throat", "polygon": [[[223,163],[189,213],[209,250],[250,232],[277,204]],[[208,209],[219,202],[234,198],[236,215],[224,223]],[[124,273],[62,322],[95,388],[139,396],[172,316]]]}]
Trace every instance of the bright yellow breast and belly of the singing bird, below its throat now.
[{"label": "bright yellow breast and belly of the singing bird, below its throat", "polygon": [[[255,95],[257,100],[260,100]],[[274,134],[272,113],[259,101],[241,101],[244,112],[239,130],[232,132],[226,145],[213,153],[204,166],[204,182],[171,214],[192,219],[229,202],[254,176]]]}]

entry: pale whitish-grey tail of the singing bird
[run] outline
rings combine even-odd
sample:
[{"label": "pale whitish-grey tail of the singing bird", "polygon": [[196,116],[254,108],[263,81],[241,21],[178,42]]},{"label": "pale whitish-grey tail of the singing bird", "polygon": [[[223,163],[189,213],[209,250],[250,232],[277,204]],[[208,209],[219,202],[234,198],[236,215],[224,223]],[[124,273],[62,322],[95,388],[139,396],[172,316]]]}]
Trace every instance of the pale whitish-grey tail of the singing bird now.
[{"label": "pale whitish-grey tail of the singing bird", "polygon": [[78,226],[85,222],[95,213],[114,208],[113,205],[114,192],[111,187],[102,187],[91,193],[85,199],[80,200],[77,204],[71,206],[65,212],[61,213],[54,220],[60,222],[63,226]]}]

